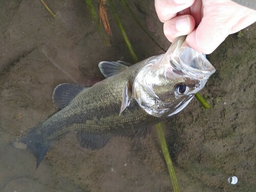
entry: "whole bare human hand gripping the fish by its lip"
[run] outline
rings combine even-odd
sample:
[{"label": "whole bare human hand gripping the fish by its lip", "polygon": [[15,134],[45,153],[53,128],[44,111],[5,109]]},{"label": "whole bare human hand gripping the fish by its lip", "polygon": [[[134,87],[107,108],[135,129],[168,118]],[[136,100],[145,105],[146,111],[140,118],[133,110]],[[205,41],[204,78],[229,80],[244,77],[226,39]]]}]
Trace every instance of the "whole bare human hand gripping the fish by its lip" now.
[{"label": "whole bare human hand gripping the fish by its lip", "polygon": [[187,45],[205,54],[256,21],[255,10],[230,0],[155,0],[155,7],[169,41],[187,35]]}]

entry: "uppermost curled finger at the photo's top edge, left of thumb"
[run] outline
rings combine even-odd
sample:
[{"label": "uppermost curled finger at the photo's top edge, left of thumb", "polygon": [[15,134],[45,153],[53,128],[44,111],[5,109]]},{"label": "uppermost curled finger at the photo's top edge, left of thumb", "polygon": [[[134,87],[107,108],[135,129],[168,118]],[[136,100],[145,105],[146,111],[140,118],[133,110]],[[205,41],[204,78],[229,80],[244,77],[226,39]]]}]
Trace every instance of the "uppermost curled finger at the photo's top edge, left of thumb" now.
[{"label": "uppermost curled finger at the photo's top edge, left of thumb", "polygon": [[193,5],[195,0],[155,0],[157,15],[162,23],[177,15],[178,12]]}]

